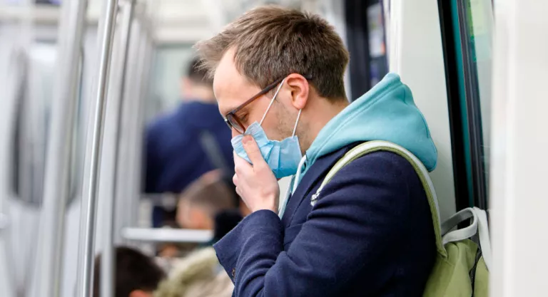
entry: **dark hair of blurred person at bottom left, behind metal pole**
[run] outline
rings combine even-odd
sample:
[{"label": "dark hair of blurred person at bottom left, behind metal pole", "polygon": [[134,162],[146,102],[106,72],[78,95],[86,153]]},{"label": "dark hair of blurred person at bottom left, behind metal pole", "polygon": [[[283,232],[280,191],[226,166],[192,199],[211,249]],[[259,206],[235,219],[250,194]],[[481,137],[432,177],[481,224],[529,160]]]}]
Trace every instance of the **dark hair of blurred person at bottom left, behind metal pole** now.
[{"label": "dark hair of blurred person at bottom left, behind metal pole", "polygon": [[[152,292],[158,283],[166,277],[166,273],[146,256],[126,246],[116,248],[116,297],[128,297],[132,291],[141,290]],[[93,297],[101,293],[101,255],[95,259],[93,271]]]}]

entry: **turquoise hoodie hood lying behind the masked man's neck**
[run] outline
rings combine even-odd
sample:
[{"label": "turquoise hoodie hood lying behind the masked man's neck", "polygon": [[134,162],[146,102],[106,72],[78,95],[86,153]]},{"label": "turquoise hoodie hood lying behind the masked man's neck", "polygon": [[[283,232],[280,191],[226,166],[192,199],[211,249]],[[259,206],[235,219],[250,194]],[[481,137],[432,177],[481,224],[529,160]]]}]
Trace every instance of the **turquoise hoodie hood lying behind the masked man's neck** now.
[{"label": "turquoise hoodie hood lying behind the masked man's neck", "polygon": [[393,142],[412,152],[428,171],[436,167],[437,150],[426,120],[410,88],[395,73],[388,73],[320,130],[306,151],[305,170],[323,155],[370,140]]}]

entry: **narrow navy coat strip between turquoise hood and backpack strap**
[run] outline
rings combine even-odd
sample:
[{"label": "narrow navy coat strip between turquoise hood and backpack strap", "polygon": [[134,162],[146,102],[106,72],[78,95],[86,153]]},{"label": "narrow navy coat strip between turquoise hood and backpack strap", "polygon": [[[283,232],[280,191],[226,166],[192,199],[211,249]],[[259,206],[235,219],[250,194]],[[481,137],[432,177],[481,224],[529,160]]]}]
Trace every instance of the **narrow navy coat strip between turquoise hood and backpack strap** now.
[{"label": "narrow navy coat strip between turquoise hood and backpack strap", "polygon": [[288,205],[285,207],[285,212],[282,217],[282,224],[285,228],[290,225],[293,215],[300,203],[303,202],[305,197],[308,197],[310,190],[313,189],[315,184],[320,182],[320,177],[325,177],[325,174],[328,174],[331,167],[333,167],[348,150],[350,150],[350,147],[343,147],[340,150],[320,157],[314,162],[303,178],[300,179],[300,183],[298,184],[297,189],[295,189],[295,193],[288,197]]}]

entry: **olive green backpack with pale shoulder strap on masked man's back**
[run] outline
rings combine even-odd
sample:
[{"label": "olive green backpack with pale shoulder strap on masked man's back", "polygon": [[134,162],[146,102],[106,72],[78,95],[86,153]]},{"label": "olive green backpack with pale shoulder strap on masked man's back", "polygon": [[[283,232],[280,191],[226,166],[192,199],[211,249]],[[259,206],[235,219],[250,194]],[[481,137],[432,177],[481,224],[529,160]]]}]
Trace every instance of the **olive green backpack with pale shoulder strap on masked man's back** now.
[{"label": "olive green backpack with pale shoulder strap on masked man's back", "polygon": [[[325,184],[342,167],[358,157],[380,150],[400,155],[413,165],[425,188],[428,204],[430,204],[437,256],[423,296],[488,297],[491,246],[486,213],[476,207],[462,209],[440,224],[440,211],[430,175],[422,162],[405,148],[392,142],[377,140],[357,145],[335,163],[318,191],[313,195],[311,204],[315,204]],[[472,219],[470,226],[452,231],[458,224],[466,222],[468,219]],[[480,244],[477,244],[478,241]]]}]

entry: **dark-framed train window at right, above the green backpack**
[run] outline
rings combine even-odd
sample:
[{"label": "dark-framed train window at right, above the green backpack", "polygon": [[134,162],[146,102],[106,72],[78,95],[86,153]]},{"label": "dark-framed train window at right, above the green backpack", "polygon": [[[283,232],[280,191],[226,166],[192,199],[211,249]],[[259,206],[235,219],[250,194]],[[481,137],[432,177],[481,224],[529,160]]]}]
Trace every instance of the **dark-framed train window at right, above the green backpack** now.
[{"label": "dark-framed train window at right, above the green backpack", "polygon": [[438,1],[450,100],[457,209],[487,209],[493,7]]}]

